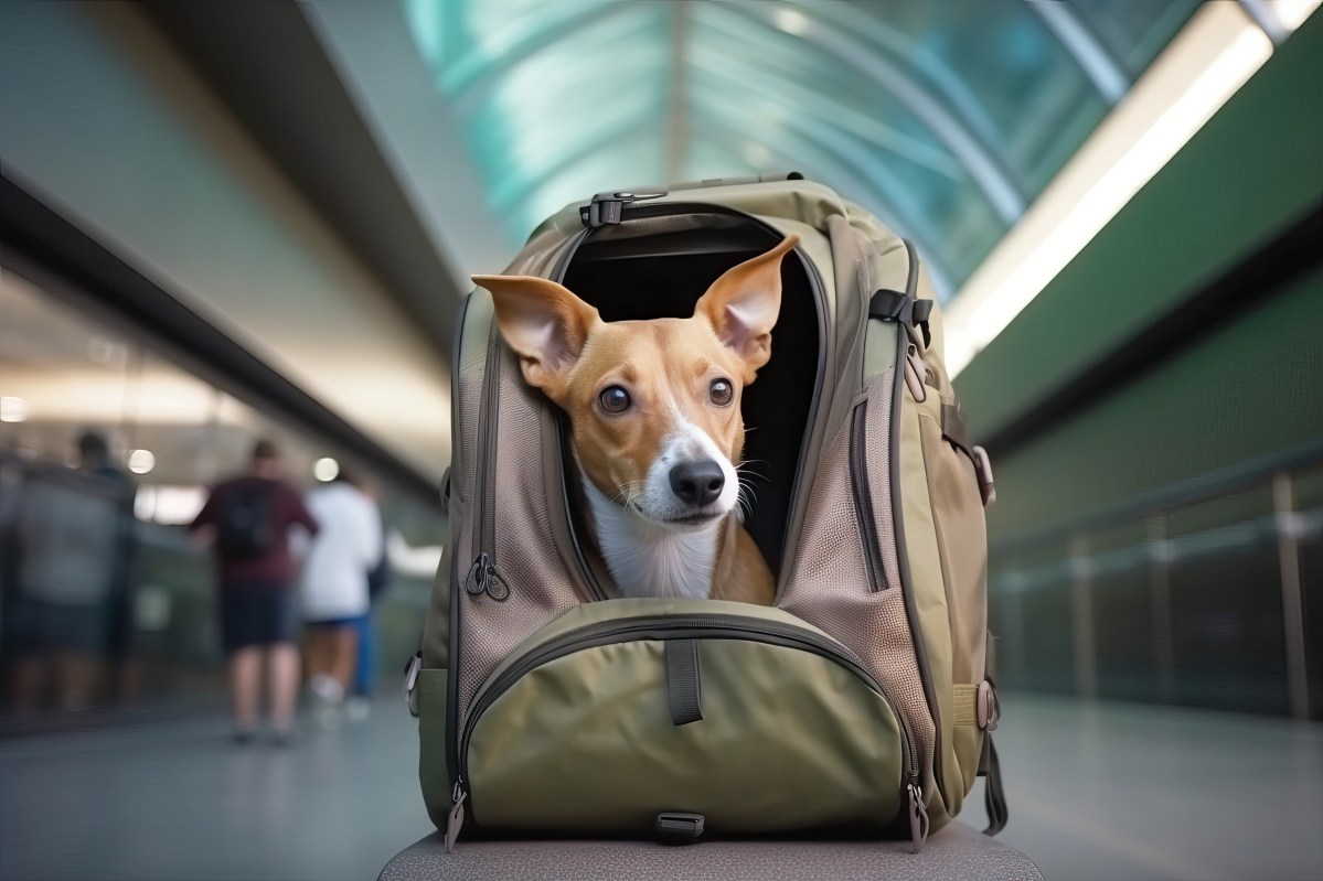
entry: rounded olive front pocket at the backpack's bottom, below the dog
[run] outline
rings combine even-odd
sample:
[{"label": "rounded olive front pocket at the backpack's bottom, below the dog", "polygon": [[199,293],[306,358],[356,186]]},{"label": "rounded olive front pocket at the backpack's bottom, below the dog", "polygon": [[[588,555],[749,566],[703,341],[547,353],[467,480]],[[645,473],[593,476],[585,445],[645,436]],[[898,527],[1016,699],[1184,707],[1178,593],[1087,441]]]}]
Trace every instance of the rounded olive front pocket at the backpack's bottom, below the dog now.
[{"label": "rounded olive front pocket at the backpack's bottom, below the dog", "polygon": [[[792,615],[618,599],[544,631],[466,725],[480,825],[647,836],[659,812],[681,811],[716,833],[881,833],[897,819],[917,775],[904,724],[849,650]],[[668,676],[668,653],[692,656],[696,681],[673,657]]]}]

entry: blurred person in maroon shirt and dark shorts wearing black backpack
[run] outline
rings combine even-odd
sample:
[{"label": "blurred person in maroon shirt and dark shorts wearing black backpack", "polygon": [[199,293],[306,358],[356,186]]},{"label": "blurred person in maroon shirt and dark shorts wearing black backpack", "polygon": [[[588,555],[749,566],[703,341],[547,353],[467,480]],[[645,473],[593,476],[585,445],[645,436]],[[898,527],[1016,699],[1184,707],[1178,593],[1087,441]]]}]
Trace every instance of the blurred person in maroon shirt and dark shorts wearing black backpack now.
[{"label": "blurred person in maroon shirt and dark shorts wearing black backpack", "polygon": [[216,554],[221,642],[241,743],[257,729],[263,661],[273,735],[278,743],[294,739],[299,608],[288,533],[302,526],[316,534],[318,523],[282,474],[280,451],[258,441],[249,472],[217,484],[189,525]]}]

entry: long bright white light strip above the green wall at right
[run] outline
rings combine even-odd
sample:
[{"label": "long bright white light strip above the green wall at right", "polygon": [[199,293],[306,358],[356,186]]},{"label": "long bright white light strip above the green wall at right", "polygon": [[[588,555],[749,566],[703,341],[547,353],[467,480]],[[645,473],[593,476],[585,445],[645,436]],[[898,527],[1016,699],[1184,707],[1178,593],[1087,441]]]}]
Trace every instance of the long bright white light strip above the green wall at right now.
[{"label": "long bright white light strip above the green wall at right", "polygon": [[957,376],[1273,54],[1237,4],[1205,4],[974,271],[946,315]]}]

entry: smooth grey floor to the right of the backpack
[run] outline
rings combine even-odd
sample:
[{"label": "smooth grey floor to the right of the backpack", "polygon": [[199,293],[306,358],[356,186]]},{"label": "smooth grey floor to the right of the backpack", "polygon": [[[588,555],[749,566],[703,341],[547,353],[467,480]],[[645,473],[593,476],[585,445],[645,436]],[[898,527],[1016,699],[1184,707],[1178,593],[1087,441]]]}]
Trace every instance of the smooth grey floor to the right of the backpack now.
[{"label": "smooth grey floor to the right of the backpack", "polygon": [[[1323,877],[1323,725],[1011,696],[1000,840],[1048,878]],[[967,823],[983,824],[982,782]]]}]

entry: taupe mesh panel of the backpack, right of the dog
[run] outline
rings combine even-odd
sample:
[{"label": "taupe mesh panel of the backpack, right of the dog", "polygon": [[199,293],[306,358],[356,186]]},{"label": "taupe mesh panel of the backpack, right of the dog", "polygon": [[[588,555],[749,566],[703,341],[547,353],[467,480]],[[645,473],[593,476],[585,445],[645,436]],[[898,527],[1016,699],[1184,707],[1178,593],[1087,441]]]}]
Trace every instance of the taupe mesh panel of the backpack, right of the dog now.
[{"label": "taupe mesh panel of the backpack, right of the dog", "polygon": [[[873,517],[888,582],[898,570],[890,504],[890,409],[893,370],[868,385],[867,467]],[[905,598],[896,586],[873,591],[868,583],[864,538],[849,471],[851,418],[847,414],[823,448],[818,479],[799,536],[795,570],[781,607],[822,627],[848,646],[886,688],[918,749],[918,763],[930,769],[935,732],[910,638]]]}]

